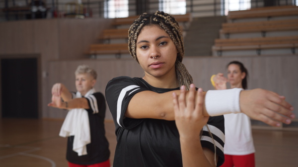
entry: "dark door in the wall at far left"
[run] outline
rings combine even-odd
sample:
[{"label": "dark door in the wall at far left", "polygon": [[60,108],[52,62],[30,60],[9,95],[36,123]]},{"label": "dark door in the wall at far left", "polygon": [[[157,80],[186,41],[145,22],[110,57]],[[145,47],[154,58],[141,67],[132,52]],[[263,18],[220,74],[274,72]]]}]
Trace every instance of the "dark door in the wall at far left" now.
[{"label": "dark door in the wall at far left", "polygon": [[38,118],[37,59],[1,59],[3,118]]}]

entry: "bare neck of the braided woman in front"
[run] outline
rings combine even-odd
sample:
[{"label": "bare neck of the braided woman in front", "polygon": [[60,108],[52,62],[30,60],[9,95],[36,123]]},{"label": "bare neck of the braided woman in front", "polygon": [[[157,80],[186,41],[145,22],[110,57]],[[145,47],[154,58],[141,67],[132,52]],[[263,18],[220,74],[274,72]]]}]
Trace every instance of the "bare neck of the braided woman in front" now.
[{"label": "bare neck of the braided woman in front", "polygon": [[176,78],[176,72],[174,72],[174,74],[161,76],[161,77],[154,77],[145,72],[145,76],[143,79],[151,86],[154,86],[154,87],[159,87],[159,88],[179,87],[179,83]]}]

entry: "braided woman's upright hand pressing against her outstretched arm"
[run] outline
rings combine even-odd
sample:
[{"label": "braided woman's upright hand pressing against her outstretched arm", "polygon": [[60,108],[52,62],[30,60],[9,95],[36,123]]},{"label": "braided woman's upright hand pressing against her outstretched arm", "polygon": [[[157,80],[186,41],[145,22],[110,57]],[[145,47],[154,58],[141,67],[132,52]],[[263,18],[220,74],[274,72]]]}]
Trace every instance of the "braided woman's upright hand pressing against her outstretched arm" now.
[{"label": "braided woman's upright hand pressing against her outstretched arm", "polygon": [[[197,96],[197,98],[195,98]],[[181,86],[181,94],[177,97],[173,93],[175,122],[182,138],[198,138],[200,131],[207,124],[209,116],[203,116],[203,90],[195,90],[195,85],[190,85],[190,90],[185,99],[185,86]],[[197,132],[197,133],[196,133]]]}]

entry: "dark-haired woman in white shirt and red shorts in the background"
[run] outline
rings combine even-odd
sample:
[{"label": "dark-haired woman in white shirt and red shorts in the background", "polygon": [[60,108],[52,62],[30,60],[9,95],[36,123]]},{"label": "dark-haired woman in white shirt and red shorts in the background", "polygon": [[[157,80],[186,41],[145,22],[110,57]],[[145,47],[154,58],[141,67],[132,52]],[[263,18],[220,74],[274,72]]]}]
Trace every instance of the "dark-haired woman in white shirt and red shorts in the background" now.
[{"label": "dark-haired woman in white shirt and red shorts in the background", "polygon": [[[222,73],[213,75],[216,89],[230,88],[247,89],[248,71],[239,61],[227,64],[227,79]],[[224,164],[221,167],[255,167],[255,148],[253,144],[250,119],[243,113],[224,115]]]}]

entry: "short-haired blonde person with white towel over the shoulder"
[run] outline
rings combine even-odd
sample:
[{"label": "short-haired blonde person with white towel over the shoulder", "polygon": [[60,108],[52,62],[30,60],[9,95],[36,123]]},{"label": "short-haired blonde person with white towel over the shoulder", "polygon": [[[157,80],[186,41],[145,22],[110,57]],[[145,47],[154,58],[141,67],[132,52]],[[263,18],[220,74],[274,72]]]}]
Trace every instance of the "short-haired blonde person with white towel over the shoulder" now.
[{"label": "short-haired blonde person with white towel over the shoulder", "polygon": [[76,92],[62,83],[52,87],[50,107],[69,110],[60,136],[68,137],[69,167],[110,167],[109,143],[105,137],[105,98],[96,92],[96,72],[86,65],[75,71]]}]

